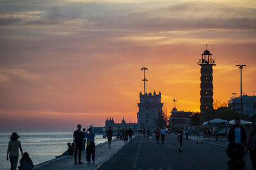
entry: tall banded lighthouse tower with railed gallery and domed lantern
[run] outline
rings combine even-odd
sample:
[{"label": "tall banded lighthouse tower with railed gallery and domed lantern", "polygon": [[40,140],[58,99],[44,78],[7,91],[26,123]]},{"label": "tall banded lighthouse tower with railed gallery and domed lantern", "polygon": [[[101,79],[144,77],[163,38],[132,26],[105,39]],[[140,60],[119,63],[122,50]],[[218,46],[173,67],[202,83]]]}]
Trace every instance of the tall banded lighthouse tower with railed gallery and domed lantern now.
[{"label": "tall banded lighthouse tower with railed gallery and domed lantern", "polygon": [[201,113],[204,113],[205,111],[213,110],[212,66],[216,66],[216,64],[208,50],[202,53],[202,59],[199,59],[197,64],[201,66],[200,110]]}]

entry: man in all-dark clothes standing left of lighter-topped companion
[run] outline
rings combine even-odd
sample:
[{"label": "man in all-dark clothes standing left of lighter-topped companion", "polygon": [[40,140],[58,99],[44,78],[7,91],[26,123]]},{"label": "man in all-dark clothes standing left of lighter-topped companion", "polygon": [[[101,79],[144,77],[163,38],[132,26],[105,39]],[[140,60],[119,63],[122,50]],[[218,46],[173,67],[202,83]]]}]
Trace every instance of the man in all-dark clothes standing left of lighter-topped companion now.
[{"label": "man in all-dark clothes standing left of lighter-topped companion", "polygon": [[81,162],[81,154],[83,150],[83,138],[84,133],[81,131],[81,125],[77,125],[77,130],[74,131],[74,145],[75,145],[75,164],[77,164],[77,151],[78,151],[78,164],[83,164]]}]

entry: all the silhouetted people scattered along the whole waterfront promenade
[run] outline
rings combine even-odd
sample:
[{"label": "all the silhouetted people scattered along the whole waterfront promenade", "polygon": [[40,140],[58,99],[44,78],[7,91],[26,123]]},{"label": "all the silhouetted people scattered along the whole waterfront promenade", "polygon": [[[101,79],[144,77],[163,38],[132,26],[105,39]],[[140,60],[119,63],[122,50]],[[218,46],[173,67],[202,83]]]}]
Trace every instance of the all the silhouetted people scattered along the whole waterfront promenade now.
[{"label": "all the silhouetted people scattered along the whole waterfront promenade", "polygon": [[[93,133],[93,129],[89,128],[83,129],[81,131],[81,125],[77,125],[77,130],[74,131],[73,143],[68,143],[68,149],[66,152],[61,154],[63,155],[74,155],[74,164],[83,164],[81,161],[81,153],[86,151],[86,161],[87,164],[95,163],[95,134]],[[159,144],[159,139],[161,138],[161,143],[164,144],[164,139],[168,135],[168,131],[164,128],[162,129],[140,129],[139,133],[143,134],[143,138],[145,138],[146,134],[147,137],[152,137],[152,134],[156,136],[156,144]],[[124,143],[127,143],[128,138],[129,141],[132,142],[132,136],[134,131],[132,129],[122,129],[121,131],[117,132],[116,139],[117,140],[124,140]],[[179,142],[179,151],[182,152],[182,139],[183,135],[186,135],[186,139],[188,139],[189,131],[188,128],[182,129],[179,128],[177,130],[178,142]],[[113,130],[111,127],[108,128],[106,131],[106,137],[108,138],[108,147],[111,148],[111,141],[113,138]],[[8,150],[6,159],[10,160],[11,163],[11,170],[17,169],[18,159],[19,159],[19,150],[22,155],[22,158],[19,161],[19,169],[21,170],[31,170],[33,169],[33,161],[29,158],[28,152],[23,152],[22,146],[19,139],[19,135],[16,132],[13,132],[10,136],[10,141],[8,143]],[[252,167],[253,170],[256,170],[256,125],[253,124],[250,127],[250,134],[249,136],[246,135],[246,131],[241,127],[240,120],[236,119],[236,125],[232,127],[228,133],[228,141],[230,144],[227,148],[228,157],[230,157],[230,161],[228,162],[229,166],[232,166],[234,162],[232,154],[234,154],[234,150],[238,150],[241,152],[241,160],[244,157],[244,152],[250,154],[250,158],[252,160]],[[77,162],[77,155],[78,155],[78,162]],[[237,158],[236,158],[237,159]],[[243,163],[243,162],[242,162]]]}]

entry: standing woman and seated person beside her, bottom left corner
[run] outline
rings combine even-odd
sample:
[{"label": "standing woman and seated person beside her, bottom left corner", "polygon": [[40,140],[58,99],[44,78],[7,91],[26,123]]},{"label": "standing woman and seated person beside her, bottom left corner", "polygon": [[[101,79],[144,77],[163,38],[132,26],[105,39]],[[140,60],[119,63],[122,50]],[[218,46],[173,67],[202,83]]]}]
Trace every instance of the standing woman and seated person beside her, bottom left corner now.
[{"label": "standing woman and seated person beside her, bottom left corner", "polygon": [[20,137],[16,132],[12,133],[10,137],[10,141],[8,143],[8,150],[6,160],[10,160],[11,170],[15,170],[17,168],[18,160],[19,160],[19,150],[21,152],[22,158],[20,159],[20,170],[31,170],[34,165],[32,160],[29,158],[28,152],[24,152],[21,147],[21,143],[18,140]]}]

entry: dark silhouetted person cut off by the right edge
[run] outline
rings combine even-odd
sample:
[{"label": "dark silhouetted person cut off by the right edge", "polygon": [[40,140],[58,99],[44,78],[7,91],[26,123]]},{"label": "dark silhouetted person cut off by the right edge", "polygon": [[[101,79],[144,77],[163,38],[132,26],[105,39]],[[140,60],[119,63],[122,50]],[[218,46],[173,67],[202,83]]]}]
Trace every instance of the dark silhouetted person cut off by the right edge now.
[{"label": "dark silhouetted person cut off by the right edge", "polygon": [[251,132],[248,138],[246,152],[250,153],[252,168],[253,170],[256,170],[256,125],[251,125]]}]

